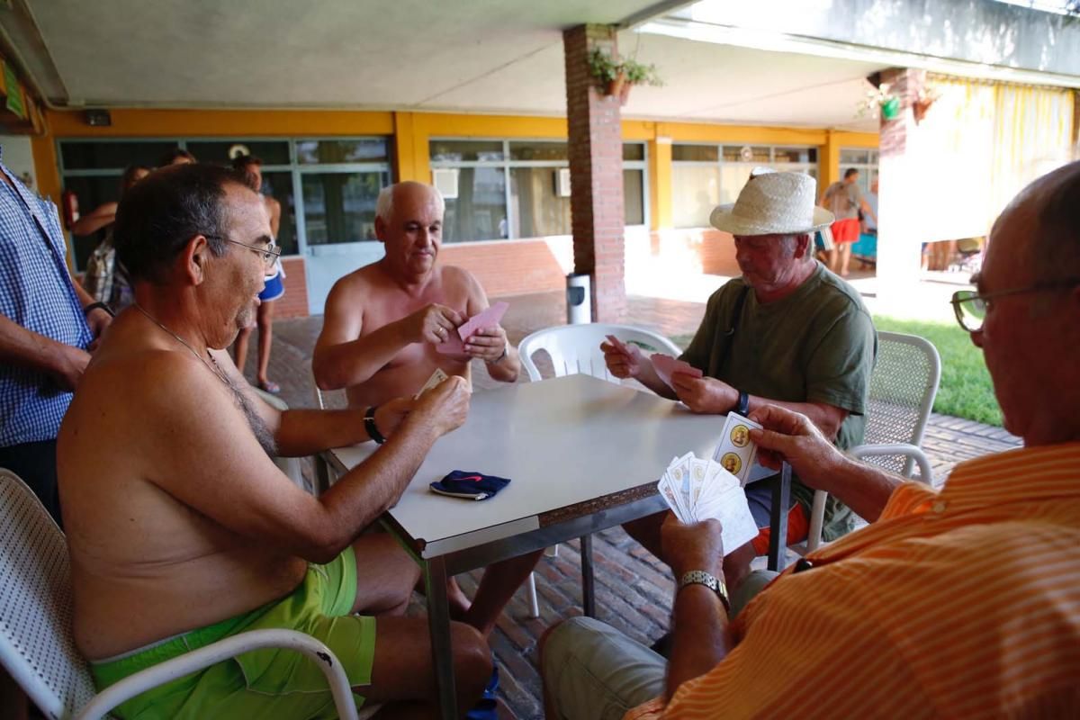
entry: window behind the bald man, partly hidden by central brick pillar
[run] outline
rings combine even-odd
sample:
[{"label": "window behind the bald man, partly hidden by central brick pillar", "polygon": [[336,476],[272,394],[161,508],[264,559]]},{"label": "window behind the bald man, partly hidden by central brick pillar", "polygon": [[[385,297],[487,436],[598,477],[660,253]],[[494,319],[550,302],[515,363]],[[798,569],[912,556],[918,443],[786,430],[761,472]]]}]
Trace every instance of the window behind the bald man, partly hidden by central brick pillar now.
[{"label": "window behind the bald man, partly hidden by central brick pillar", "polygon": [[[562,140],[433,139],[446,199],[443,242],[570,234],[569,148]],[[624,219],[644,225],[645,145],[623,146]]]}]

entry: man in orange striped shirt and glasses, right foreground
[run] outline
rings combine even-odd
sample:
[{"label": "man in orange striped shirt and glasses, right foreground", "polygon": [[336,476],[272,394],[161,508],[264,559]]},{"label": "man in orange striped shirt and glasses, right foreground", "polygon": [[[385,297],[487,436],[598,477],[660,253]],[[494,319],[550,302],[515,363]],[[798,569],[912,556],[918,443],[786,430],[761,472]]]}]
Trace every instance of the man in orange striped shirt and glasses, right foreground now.
[{"label": "man in orange striped shirt and glasses, right foreground", "polygon": [[957,318],[1025,447],[958,465],[935,492],[761,408],[762,459],[873,525],[729,622],[718,524],[667,518],[671,662],[568,621],[543,647],[549,718],[1080,715],[1080,163],[1005,208],[976,285],[954,296]]}]

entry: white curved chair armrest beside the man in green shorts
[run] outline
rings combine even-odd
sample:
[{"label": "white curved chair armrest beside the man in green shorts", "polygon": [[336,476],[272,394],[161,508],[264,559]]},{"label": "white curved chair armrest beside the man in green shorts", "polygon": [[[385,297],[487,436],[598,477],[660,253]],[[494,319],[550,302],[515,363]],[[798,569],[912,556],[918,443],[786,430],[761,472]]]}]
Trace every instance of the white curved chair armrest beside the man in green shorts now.
[{"label": "white curved chair armrest beside the man in green shorts", "polygon": [[241,633],[179,657],[165,661],[160,665],[148,667],[124,678],[114,685],[110,685],[96,695],[86,707],[79,711],[75,720],[98,720],[116,706],[151,688],[157,688],[241,653],[264,648],[295,650],[311,658],[326,676],[338,716],[342,720],[356,720],[356,704],[352,697],[349,678],[346,677],[345,668],[341,667],[337,656],[330,652],[329,648],[310,635],[286,629]]}]

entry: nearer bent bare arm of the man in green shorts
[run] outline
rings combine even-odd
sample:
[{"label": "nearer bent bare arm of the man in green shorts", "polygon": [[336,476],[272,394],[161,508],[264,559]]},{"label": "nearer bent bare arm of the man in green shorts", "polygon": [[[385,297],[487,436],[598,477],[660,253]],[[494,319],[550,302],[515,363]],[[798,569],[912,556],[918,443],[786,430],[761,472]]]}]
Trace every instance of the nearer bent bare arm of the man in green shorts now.
[{"label": "nearer bent bare arm of the man in green shorts", "polygon": [[[143,470],[179,502],[232,532],[312,562],[336,557],[391,507],[432,444],[468,415],[464,380],[429,391],[365,462],[319,498],[303,492],[262,451],[231,391],[175,352],[144,363],[132,392],[146,397]],[[168,377],[164,392],[159,378]]]}]

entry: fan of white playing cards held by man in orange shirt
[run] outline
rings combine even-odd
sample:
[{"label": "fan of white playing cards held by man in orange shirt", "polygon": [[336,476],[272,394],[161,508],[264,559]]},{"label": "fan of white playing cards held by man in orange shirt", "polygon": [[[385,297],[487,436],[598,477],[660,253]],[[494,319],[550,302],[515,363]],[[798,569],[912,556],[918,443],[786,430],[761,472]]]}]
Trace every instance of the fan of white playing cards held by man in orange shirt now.
[{"label": "fan of white playing cards held by man in orange shirt", "polygon": [[712,460],[700,460],[692,452],[675,458],[657,488],[680,521],[719,520],[725,555],[757,536],[739,479]]}]

